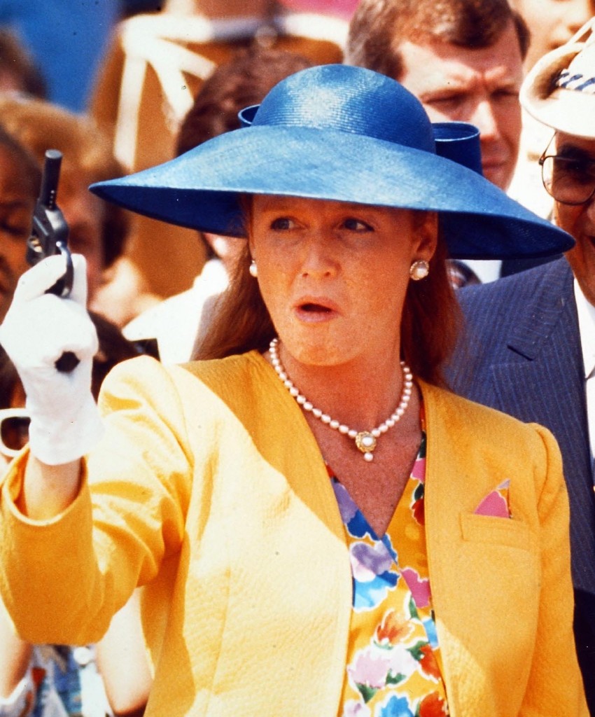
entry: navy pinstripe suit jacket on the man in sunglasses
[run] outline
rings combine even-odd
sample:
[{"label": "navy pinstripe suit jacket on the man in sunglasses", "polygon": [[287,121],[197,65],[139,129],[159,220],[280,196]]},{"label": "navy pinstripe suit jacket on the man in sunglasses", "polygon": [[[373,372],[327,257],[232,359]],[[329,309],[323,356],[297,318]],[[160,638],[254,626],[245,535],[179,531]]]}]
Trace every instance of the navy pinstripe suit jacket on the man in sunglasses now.
[{"label": "navy pinstripe suit jacket on the man in sunglasses", "polygon": [[548,427],[561,448],[571,503],[575,635],[595,714],[595,496],[573,275],[560,259],[458,295],[465,329],[447,371],[452,389]]}]

